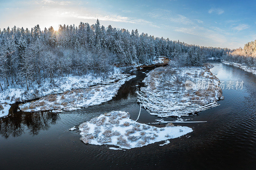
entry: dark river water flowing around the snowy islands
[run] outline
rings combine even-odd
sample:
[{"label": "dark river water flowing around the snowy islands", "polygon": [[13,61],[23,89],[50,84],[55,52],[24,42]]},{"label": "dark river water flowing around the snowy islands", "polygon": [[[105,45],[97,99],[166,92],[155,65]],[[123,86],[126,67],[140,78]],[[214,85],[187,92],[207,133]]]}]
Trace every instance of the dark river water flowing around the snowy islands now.
[{"label": "dark river water flowing around the snowy islands", "polygon": [[[220,81],[244,81],[243,89],[224,89],[220,106],[187,116],[207,122],[180,123],[193,132],[171,139],[170,144],[159,146],[162,141],[116,151],[108,149],[111,145],[84,144],[79,131],[68,130],[112,110],[129,112],[136,120],[140,86],[135,85],[143,85],[145,74],[135,71],[136,78],[126,82],[113,100],[100,105],[57,114],[16,112],[13,106],[12,114],[0,119],[0,169],[255,169],[256,75],[213,64],[211,71]],[[138,122],[155,119],[142,109]]]}]

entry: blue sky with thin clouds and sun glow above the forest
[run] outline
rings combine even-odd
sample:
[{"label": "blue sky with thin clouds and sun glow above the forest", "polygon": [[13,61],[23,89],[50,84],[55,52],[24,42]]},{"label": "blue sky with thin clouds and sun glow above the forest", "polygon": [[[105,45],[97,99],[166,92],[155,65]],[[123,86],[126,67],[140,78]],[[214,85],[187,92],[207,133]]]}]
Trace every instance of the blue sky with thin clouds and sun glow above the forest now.
[{"label": "blue sky with thin clouds and sun glow above the forest", "polygon": [[239,48],[256,39],[255,1],[0,0],[0,28],[88,22],[200,46]]}]

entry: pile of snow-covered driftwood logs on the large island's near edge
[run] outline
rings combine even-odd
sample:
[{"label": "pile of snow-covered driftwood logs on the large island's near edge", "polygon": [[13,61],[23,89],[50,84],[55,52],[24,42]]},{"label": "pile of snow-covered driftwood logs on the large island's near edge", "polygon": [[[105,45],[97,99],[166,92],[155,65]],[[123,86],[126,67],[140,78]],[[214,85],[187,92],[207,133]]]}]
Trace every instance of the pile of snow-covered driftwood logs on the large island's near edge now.
[{"label": "pile of snow-covered driftwood logs on the large island's near edge", "polygon": [[[145,108],[150,115],[157,117],[181,117],[198,113],[211,107],[219,106],[216,102],[209,103],[204,106],[192,104],[191,102],[180,103],[175,101],[175,98],[167,100],[166,97],[160,94],[141,91],[138,93],[138,102],[140,106]],[[157,120],[164,122],[163,120]]]}]

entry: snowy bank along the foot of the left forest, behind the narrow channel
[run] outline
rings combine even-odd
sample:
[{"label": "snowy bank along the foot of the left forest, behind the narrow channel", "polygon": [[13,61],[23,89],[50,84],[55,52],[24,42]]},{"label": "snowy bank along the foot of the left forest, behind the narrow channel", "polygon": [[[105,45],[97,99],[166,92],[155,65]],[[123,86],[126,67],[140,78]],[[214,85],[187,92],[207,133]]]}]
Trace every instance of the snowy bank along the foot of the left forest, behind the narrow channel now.
[{"label": "snowy bank along the foot of the left forest, behind the narrow channel", "polygon": [[[50,83],[49,78],[42,80],[41,85],[32,84],[27,90],[26,87],[9,87],[0,92],[0,103],[8,104],[16,102],[24,102],[44,97],[49,94],[58,94],[73,89],[88,88],[95,84],[113,83],[119,79],[129,77],[129,74],[121,74],[118,68],[114,68],[113,72],[109,72],[104,77],[95,77],[92,74],[83,76],[72,76],[55,78],[54,83]],[[0,82],[1,83],[1,82]]]}]

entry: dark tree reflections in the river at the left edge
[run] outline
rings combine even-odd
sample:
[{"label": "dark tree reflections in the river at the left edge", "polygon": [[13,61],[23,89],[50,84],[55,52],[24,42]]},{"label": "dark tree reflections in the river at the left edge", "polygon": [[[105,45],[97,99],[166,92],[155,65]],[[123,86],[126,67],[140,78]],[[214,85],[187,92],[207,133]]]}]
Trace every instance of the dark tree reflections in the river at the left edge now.
[{"label": "dark tree reflections in the river at the left edge", "polygon": [[[11,108],[11,112],[13,109]],[[19,137],[26,130],[30,135],[37,135],[40,130],[46,130],[51,124],[55,124],[60,119],[59,114],[51,112],[35,112],[35,113],[11,113],[10,116],[0,119],[0,134],[8,138]]]}]

